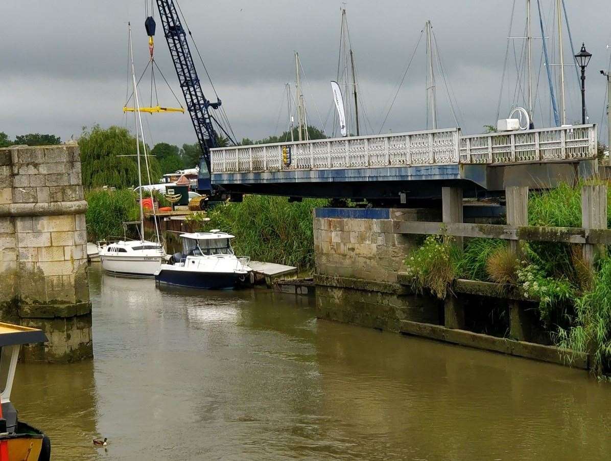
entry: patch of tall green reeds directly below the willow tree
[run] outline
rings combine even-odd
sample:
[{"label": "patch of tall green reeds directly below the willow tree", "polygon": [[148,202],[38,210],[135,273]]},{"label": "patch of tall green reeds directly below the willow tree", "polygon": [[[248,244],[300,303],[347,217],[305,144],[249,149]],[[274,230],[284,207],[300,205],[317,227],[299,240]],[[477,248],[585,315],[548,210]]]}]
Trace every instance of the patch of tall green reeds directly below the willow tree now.
[{"label": "patch of tall green reeds directly below the willow tree", "polygon": [[[87,239],[90,242],[109,236],[122,236],[123,222],[140,219],[140,209],[133,190],[94,189],[85,194],[85,199],[87,200]],[[128,236],[134,237],[130,234]]]}]

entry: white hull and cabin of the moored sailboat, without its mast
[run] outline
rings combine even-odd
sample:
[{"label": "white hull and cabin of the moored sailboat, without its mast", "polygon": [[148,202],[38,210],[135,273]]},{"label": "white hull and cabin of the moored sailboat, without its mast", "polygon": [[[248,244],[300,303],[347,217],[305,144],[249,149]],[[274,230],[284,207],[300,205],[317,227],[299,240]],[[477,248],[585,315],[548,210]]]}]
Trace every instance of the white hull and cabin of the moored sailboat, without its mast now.
[{"label": "white hull and cabin of the moored sailboat, without its mast", "polygon": [[106,272],[140,277],[155,275],[166,256],[162,245],[144,240],[98,242],[98,253]]}]

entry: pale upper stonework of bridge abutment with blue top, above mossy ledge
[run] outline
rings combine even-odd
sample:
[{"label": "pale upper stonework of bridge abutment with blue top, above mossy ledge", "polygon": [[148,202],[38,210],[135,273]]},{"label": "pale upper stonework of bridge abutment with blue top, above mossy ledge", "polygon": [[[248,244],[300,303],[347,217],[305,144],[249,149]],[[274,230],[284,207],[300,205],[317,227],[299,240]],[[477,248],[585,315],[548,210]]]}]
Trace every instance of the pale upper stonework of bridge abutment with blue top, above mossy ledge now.
[{"label": "pale upper stonework of bridge abutment with blue top, above mossy ledge", "polygon": [[393,233],[393,221],[441,221],[435,209],[319,208],[314,211],[316,274],[397,282],[417,238]]}]

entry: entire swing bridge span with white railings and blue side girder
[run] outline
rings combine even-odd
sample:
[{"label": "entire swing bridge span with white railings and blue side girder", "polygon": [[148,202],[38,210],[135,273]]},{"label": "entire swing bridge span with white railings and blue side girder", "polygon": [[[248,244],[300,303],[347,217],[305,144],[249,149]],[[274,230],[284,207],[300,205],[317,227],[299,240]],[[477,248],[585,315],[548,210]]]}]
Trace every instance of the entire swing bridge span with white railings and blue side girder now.
[{"label": "entire swing bridge span with white railings and blue side girder", "polygon": [[[211,182],[233,193],[401,200],[509,183],[571,181],[596,168],[596,125],[463,135],[458,128],[210,151]],[[401,197],[403,196],[403,197]]]}]

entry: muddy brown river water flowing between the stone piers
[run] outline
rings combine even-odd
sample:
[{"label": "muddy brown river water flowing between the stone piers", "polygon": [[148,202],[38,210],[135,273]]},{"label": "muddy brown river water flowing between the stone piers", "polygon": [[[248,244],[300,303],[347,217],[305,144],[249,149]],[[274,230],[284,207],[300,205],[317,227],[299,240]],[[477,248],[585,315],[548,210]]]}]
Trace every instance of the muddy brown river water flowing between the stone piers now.
[{"label": "muddy brown river water flowing between the stone piers", "polygon": [[316,320],[268,290],[90,284],[95,359],[21,364],[13,387],[54,460],[611,457],[611,384],[585,372]]}]

